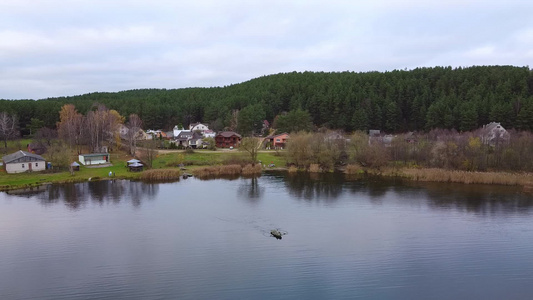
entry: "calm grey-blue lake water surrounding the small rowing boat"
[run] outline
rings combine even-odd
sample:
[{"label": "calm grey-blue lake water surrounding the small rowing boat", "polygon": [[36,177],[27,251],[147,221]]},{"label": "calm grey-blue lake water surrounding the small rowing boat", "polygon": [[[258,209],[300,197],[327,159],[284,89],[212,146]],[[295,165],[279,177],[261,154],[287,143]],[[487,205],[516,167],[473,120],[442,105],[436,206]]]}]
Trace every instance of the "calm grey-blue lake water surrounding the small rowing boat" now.
[{"label": "calm grey-blue lake water surrounding the small rowing boat", "polygon": [[532,205],[339,174],[0,193],[0,299],[533,299]]}]

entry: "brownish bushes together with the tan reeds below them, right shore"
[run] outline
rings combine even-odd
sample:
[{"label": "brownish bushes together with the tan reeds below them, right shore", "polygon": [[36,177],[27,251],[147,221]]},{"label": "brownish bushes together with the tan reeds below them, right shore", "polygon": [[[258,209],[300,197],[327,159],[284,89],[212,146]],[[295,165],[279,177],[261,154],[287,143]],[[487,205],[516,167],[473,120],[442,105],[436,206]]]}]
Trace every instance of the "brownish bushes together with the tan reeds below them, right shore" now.
[{"label": "brownish bushes together with the tan reeds below them, right shore", "polygon": [[533,135],[509,131],[506,139],[486,140],[479,131],[433,130],[372,137],[355,132],[292,134],[287,162],[309,172],[401,176],[419,181],[533,185]]}]

